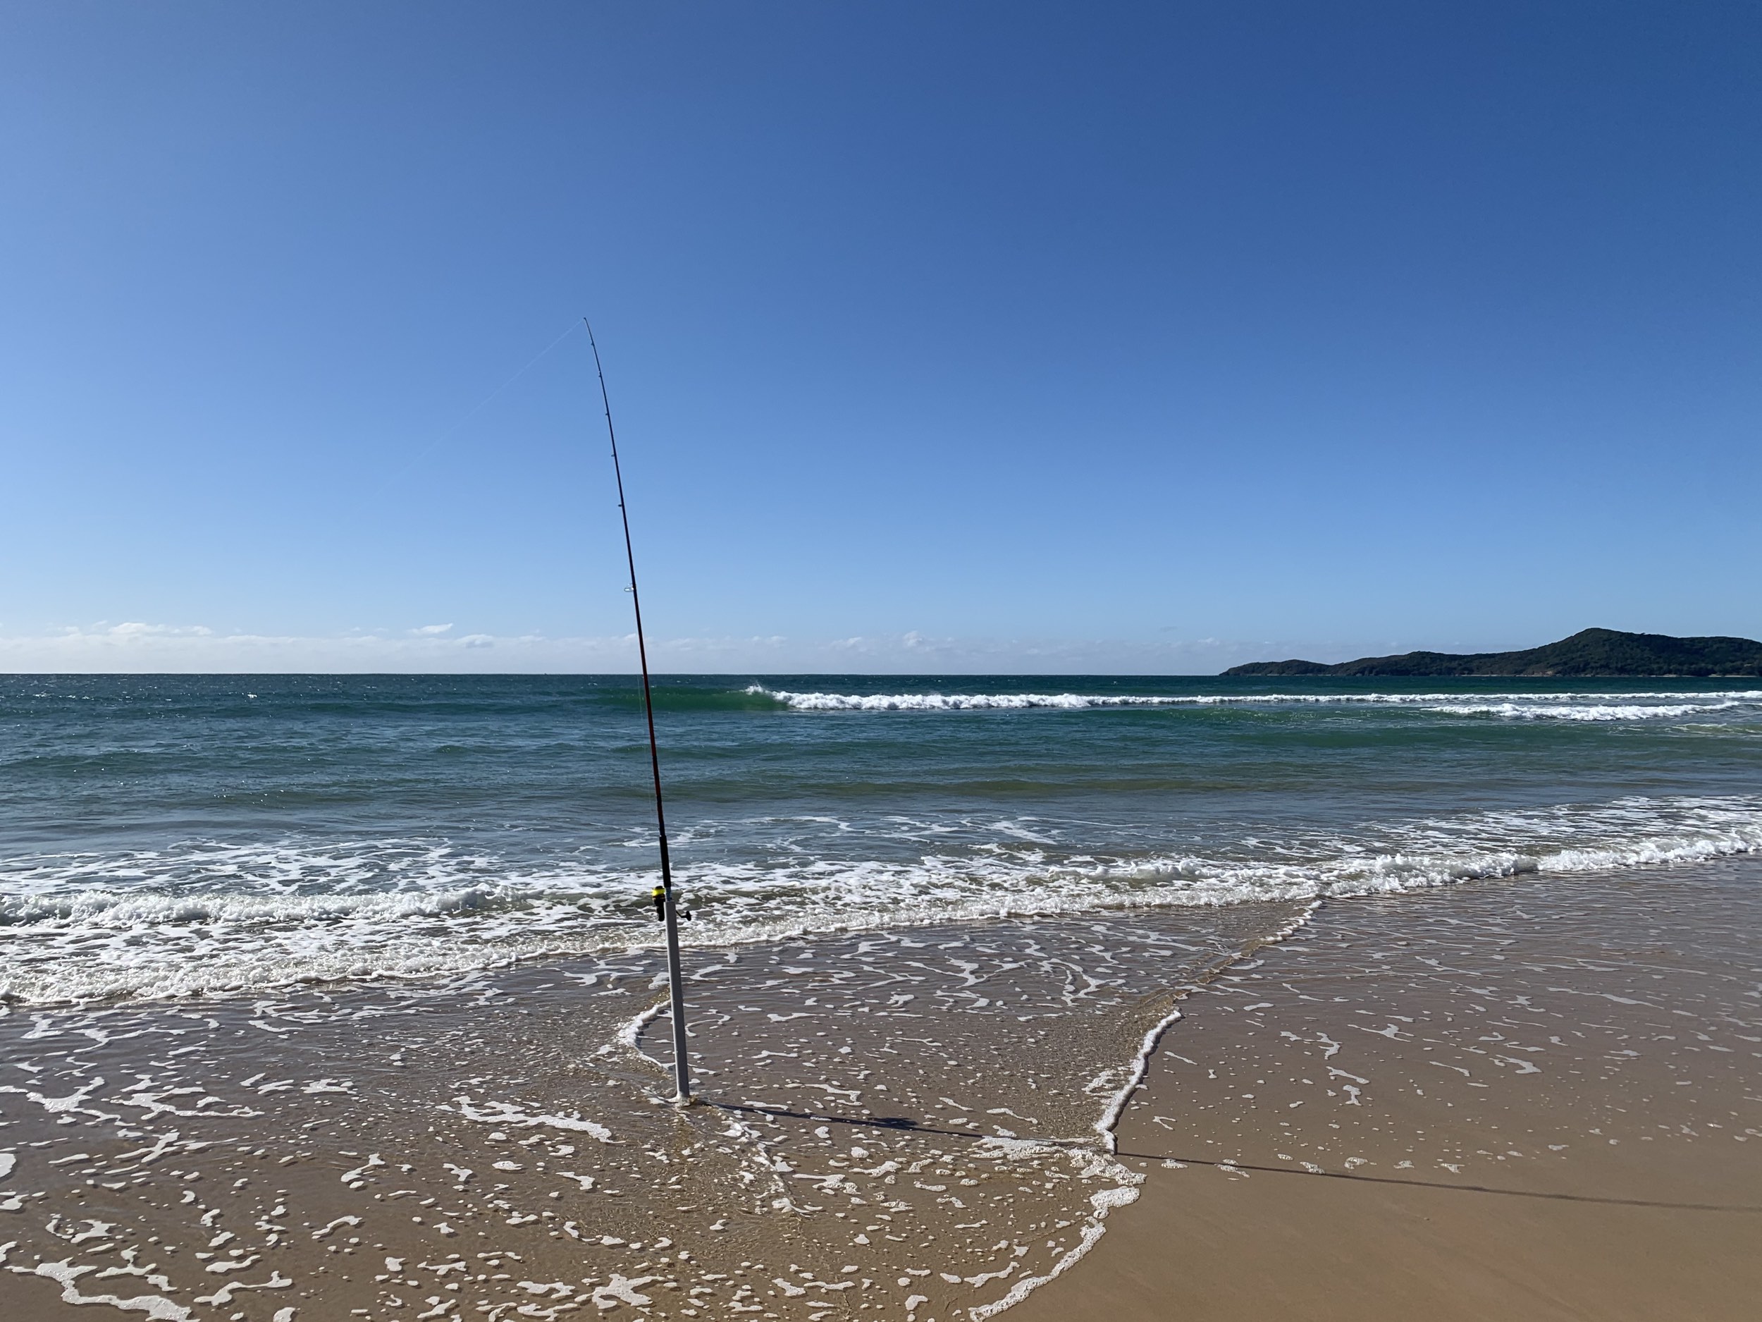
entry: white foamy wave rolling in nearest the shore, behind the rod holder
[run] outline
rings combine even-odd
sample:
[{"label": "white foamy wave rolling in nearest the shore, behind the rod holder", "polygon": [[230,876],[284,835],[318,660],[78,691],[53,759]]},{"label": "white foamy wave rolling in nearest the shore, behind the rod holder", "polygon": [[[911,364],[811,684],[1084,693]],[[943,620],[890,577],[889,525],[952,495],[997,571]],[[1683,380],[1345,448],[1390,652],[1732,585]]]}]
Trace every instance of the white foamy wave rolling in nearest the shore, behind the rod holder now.
[{"label": "white foamy wave rolling in nearest the shore, behind the rod holder", "polygon": [[[913,837],[930,850],[918,857],[851,860],[830,857],[842,828],[803,818],[795,848],[766,860],[682,865],[678,881],[698,911],[691,943],[1702,862],[1762,851],[1762,797],[1630,797],[1191,851],[1101,853],[1085,848],[1080,823],[1068,832],[996,823],[988,839],[936,846],[932,832]],[[423,860],[419,873],[393,867],[411,858]],[[241,994],[629,950],[659,936],[645,911],[650,883],[641,869],[518,871],[421,841],[333,850],[197,841],[150,855],[19,858],[0,867],[0,998]]]}]

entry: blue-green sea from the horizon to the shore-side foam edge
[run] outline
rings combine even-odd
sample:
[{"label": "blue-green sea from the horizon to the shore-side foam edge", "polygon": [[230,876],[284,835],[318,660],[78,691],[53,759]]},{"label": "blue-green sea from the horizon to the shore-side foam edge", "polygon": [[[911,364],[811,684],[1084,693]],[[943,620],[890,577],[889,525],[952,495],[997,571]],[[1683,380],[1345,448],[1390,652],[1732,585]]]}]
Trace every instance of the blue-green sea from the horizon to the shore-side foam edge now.
[{"label": "blue-green sea from the horizon to the shore-side foam edge", "polygon": [[[657,719],[705,945],[1753,851],[1744,684],[719,675]],[[650,943],[645,776],[626,677],[4,677],[0,994]]]}]

